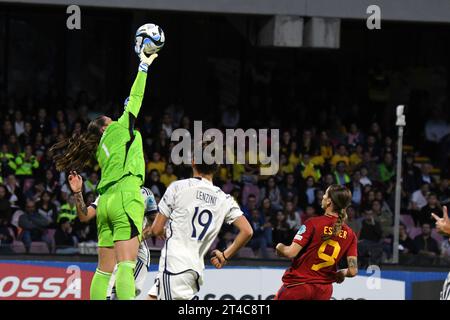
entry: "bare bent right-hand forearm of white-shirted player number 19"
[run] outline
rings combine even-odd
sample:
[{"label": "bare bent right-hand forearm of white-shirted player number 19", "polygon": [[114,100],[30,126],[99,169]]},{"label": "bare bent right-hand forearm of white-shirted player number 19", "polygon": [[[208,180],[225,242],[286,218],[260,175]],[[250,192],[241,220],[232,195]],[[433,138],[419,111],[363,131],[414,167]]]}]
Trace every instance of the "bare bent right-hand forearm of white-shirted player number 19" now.
[{"label": "bare bent right-hand forearm of white-shirted player number 19", "polygon": [[233,225],[239,230],[233,243],[224,251],[214,250],[212,252],[211,263],[217,269],[222,268],[253,236],[253,229],[244,215],[236,218]]}]

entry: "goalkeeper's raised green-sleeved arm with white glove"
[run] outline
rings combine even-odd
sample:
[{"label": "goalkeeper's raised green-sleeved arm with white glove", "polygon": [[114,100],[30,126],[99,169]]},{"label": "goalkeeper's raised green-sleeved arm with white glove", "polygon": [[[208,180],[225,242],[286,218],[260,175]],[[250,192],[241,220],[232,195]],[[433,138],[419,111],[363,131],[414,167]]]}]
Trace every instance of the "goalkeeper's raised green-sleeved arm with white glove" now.
[{"label": "goalkeeper's raised green-sleeved arm with white glove", "polygon": [[142,100],[144,98],[145,84],[147,82],[147,70],[157,56],[158,55],[155,53],[150,57],[147,57],[144,52],[141,52],[139,55],[139,58],[141,59],[139,71],[136,79],[134,80],[133,86],[131,87],[130,96],[125,100],[125,110],[118,120],[120,124],[127,128],[134,129],[134,123],[139,114]]}]

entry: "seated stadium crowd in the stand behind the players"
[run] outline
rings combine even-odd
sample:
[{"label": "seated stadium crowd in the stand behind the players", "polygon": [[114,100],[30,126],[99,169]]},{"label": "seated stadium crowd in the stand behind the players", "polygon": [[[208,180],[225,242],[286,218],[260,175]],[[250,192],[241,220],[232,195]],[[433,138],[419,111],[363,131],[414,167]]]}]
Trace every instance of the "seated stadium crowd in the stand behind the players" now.
[{"label": "seated stadium crowd in the stand behind the players", "polygon": [[[66,176],[55,171],[49,150],[59,139],[86,128],[92,108],[87,108],[82,95],[77,103],[76,108],[54,112],[31,103],[1,107],[5,110],[0,115],[2,253],[71,254],[79,253],[83,243],[95,244],[95,221],[78,220]],[[138,127],[147,157],[145,186],[159,201],[171,182],[191,174],[189,166],[171,163],[170,137],[176,128],[192,129],[193,119],[180,105],[166,108],[160,117],[143,110]],[[433,150],[450,133],[449,123],[436,110],[423,127]],[[237,108],[222,108],[215,123],[222,129],[240,124]],[[367,127],[355,121],[329,124],[281,130],[280,169],[274,176],[260,175],[258,165],[220,167],[216,184],[238,200],[254,229],[242,256],[274,258],[274,245],[290,243],[303,222],[320,215],[324,190],[337,183],[347,185],[353,194],[348,224],[359,237],[361,264],[391,259],[395,137],[378,122]],[[432,212],[442,216],[442,206],[450,202],[447,164],[440,166],[440,158],[426,157],[421,151],[404,148],[401,258],[404,263],[448,264],[450,240],[437,234],[431,219]],[[99,174],[97,167],[83,173],[86,203],[96,197]],[[224,226],[215,245],[224,247],[233,237],[232,227]]]}]

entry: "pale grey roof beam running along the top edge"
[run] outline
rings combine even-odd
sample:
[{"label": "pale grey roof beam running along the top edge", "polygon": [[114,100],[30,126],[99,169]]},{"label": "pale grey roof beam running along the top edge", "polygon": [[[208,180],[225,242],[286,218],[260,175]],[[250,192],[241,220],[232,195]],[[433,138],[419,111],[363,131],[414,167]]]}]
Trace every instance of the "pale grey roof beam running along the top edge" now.
[{"label": "pale grey roof beam running along the top edge", "polygon": [[381,9],[381,18],[386,21],[450,23],[448,0],[0,0],[0,2],[341,19],[366,19],[367,8],[376,4]]}]

